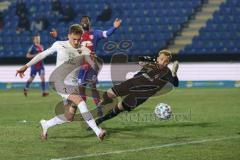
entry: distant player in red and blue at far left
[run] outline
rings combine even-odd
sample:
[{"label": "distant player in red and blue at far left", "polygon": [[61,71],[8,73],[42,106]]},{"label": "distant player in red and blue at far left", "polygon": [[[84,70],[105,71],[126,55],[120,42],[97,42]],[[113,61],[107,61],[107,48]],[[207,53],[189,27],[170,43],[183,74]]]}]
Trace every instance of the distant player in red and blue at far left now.
[{"label": "distant player in red and blue at far left", "polygon": [[[33,45],[29,48],[28,53],[26,54],[26,57],[29,59],[32,59],[38,53],[43,51],[43,46],[41,45],[41,38],[39,34],[36,34],[33,36]],[[34,80],[36,74],[38,73],[40,79],[41,79],[41,88],[42,88],[42,96],[48,96],[48,93],[45,91],[46,86],[45,86],[45,70],[44,70],[44,64],[43,61],[39,61],[35,65],[31,66],[31,71],[30,71],[30,78],[27,80],[27,83],[24,88],[24,95],[27,97],[29,87]]]}]

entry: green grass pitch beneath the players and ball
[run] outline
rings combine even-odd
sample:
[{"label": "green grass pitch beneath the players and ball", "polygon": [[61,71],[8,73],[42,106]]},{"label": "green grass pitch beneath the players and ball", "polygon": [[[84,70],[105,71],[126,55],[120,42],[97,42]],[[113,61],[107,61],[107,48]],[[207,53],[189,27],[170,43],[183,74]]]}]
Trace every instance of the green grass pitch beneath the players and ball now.
[{"label": "green grass pitch beneath the players and ball", "polygon": [[[0,160],[238,160],[240,89],[176,89],[101,125],[99,142],[84,122],[59,125],[39,138],[39,120],[54,116],[56,93],[0,91]],[[168,121],[152,117],[157,103],[172,107]],[[89,101],[89,104],[92,104]],[[26,121],[23,121],[26,120]]]}]

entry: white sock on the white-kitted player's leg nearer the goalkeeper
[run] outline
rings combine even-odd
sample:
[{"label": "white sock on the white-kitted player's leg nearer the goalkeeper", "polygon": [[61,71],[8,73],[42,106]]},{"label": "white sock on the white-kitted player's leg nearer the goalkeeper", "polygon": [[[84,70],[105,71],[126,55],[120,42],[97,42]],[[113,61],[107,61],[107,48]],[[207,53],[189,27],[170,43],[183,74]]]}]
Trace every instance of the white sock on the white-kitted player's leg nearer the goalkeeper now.
[{"label": "white sock on the white-kitted player's leg nearer the goalkeeper", "polygon": [[[83,115],[84,113],[89,113],[89,115],[92,116],[92,114],[89,112],[88,108],[87,108],[87,104],[84,101],[81,101],[78,104],[78,109],[80,110],[80,113]],[[83,116],[84,117],[84,116]],[[86,120],[86,123],[88,124],[89,127],[92,128],[92,130],[96,133],[96,135],[98,136],[101,133],[101,129],[97,126],[95,120],[92,118],[90,120]]]}]

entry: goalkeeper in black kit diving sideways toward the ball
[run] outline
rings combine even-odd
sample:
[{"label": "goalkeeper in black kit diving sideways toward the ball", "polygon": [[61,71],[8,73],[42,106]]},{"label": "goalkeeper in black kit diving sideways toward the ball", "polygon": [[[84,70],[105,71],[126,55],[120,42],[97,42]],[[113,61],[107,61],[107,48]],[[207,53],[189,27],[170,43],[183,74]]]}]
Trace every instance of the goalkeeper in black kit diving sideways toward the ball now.
[{"label": "goalkeeper in black kit diving sideways toward the ball", "polygon": [[171,61],[171,52],[162,50],[158,53],[155,61],[141,62],[142,69],[134,75],[133,78],[114,85],[112,88],[104,92],[103,100],[99,107],[113,102],[116,97],[122,97],[122,101],[106,113],[103,117],[96,120],[97,125],[112,119],[122,111],[131,111],[137,106],[144,103],[148,98],[158,94],[164,86],[171,84],[178,87],[179,81],[177,77],[178,62],[173,63],[172,71],[168,68]]}]

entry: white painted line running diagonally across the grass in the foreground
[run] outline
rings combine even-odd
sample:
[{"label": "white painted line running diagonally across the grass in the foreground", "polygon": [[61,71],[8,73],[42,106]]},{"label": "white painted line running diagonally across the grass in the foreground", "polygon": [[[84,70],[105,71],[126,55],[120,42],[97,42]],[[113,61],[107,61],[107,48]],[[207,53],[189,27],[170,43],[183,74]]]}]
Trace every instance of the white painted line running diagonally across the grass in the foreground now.
[{"label": "white painted line running diagonally across the grass in the foreground", "polygon": [[92,153],[92,154],[84,154],[74,157],[62,157],[62,158],[54,158],[51,160],[69,160],[69,159],[81,159],[81,158],[87,158],[87,157],[98,157],[98,156],[105,156],[105,155],[111,155],[111,154],[121,154],[121,153],[127,153],[127,152],[139,152],[143,150],[151,150],[151,149],[159,149],[159,148],[167,148],[167,147],[175,147],[175,146],[184,146],[188,144],[201,144],[206,142],[214,142],[214,141],[223,141],[228,139],[236,139],[240,138],[240,136],[232,136],[232,137],[223,137],[223,138],[217,138],[217,139],[202,139],[202,140],[196,140],[196,141],[189,141],[189,142],[179,142],[179,143],[169,143],[169,144],[163,144],[163,145],[157,145],[157,146],[150,146],[150,147],[142,147],[142,148],[136,148],[136,149],[127,149],[127,150],[118,150],[118,151],[112,151],[112,152],[103,152],[103,153]]}]

